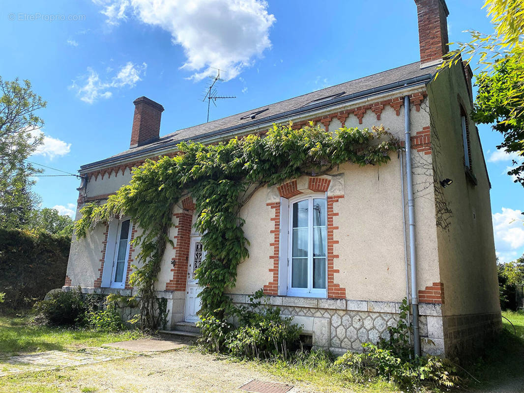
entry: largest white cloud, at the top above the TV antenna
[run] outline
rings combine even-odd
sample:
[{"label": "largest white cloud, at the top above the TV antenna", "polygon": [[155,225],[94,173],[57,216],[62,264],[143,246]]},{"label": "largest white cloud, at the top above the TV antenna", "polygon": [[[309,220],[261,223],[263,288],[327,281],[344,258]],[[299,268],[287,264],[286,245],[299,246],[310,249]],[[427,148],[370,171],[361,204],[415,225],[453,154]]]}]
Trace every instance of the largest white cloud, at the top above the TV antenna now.
[{"label": "largest white cloud, at the top above the TV antenna", "polygon": [[107,23],[118,25],[128,16],[160,27],[184,49],[181,68],[201,80],[215,73],[212,67],[235,78],[271,47],[269,28],[275,16],[264,0],[93,0],[102,7]]}]

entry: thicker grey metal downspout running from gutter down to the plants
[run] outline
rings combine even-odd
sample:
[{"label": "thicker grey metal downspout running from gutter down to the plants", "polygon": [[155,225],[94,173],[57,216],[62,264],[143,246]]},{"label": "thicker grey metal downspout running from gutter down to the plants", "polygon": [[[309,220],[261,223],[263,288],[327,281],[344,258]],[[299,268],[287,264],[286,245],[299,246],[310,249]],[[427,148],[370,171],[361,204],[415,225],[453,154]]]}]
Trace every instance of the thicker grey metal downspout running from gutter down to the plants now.
[{"label": "thicker grey metal downspout running from gutter down to the plants", "polygon": [[411,164],[411,126],[409,96],[404,97],[404,129],[406,143],[406,180],[408,188],[409,253],[411,263],[411,313],[413,315],[413,350],[420,356],[419,297],[417,290],[417,255],[415,241],[415,208],[413,201],[413,170]]}]

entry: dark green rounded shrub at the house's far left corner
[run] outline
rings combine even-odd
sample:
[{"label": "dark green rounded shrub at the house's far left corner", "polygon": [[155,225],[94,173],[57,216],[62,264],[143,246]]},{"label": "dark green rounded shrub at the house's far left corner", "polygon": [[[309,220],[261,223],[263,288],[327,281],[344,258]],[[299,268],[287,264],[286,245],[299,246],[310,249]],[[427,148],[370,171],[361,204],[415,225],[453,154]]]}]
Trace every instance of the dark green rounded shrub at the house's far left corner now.
[{"label": "dark green rounded shrub at the house's far left corner", "polygon": [[57,291],[49,300],[35,304],[36,321],[52,326],[81,326],[84,324],[86,306],[79,289]]}]

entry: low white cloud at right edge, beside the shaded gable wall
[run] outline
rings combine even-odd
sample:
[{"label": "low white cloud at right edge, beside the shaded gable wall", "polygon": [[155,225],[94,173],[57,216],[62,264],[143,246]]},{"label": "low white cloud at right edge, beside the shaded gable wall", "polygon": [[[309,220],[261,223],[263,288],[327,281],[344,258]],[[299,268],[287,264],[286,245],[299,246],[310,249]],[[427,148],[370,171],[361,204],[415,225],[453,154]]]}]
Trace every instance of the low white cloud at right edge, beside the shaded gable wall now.
[{"label": "low white cloud at right edge, beside the shaded gable wall", "polygon": [[508,262],[522,255],[524,247],[524,216],[520,210],[502,208],[501,213],[493,214],[495,248],[501,262]]}]

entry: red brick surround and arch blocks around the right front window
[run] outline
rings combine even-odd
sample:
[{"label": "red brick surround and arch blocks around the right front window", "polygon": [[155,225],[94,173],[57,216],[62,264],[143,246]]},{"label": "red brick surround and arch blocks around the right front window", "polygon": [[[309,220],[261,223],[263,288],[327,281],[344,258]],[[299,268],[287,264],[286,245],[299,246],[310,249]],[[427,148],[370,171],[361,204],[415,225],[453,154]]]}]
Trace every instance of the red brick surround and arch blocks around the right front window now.
[{"label": "red brick surround and arch blocks around the right front window", "polygon": [[[331,180],[325,178],[309,178],[308,188],[315,192],[328,191]],[[299,195],[302,192],[297,190],[297,181],[292,180],[285,184],[282,184],[277,188],[280,195],[283,198],[290,198],[291,196]],[[286,196],[290,195],[290,196]],[[344,198],[343,195],[328,196],[328,298],[332,299],[345,299],[346,290],[339,284],[335,283],[335,273],[340,273],[339,269],[334,268],[334,260],[339,258],[338,255],[334,255],[333,246],[338,244],[339,241],[334,239],[334,231],[338,230],[338,226],[333,225],[333,217],[339,215],[339,213],[333,212],[334,203],[338,202],[339,199]],[[272,261],[272,266],[269,268],[269,272],[272,273],[272,280],[264,286],[264,293],[267,295],[278,295],[278,269],[279,260],[278,254],[280,250],[280,202],[267,203],[269,208],[274,209],[274,216],[271,217],[271,221],[274,223],[274,227],[271,230],[273,235],[272,242],[269,243],[273,247],[273,253],[269,256]]]}]

